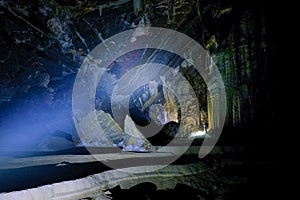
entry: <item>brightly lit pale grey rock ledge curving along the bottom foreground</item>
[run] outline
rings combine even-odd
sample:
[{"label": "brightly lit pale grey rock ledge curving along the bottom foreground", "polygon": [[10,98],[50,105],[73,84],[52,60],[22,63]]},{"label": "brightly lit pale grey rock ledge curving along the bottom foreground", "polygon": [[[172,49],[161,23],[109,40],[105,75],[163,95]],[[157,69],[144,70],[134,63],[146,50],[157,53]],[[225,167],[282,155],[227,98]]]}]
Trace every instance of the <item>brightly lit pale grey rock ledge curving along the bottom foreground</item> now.
[{"label": "brightly lit pale grey rock ledge curving along the bottom foreground", "polygon": [[[207,171],[205,165],[200,163],[192,165],[168,166],[159,171],[143,172],[151,170],[155,166],[132,167],[128,171],[134,173],[111,170],[88,176],[86,178],[45,185],[38,188],[0,194],[0,200],[4,199],[109,199],[103,190],[120,185],[122,189],[129,189],[139,183],[151,182],[158,189],[175,188],[176,184],[187,184],[195,189],[200,188],[200,177],[205,177]],[[169,177],[172,177],[170,179]],[[168,181],[166,181],[168,179]]]}]

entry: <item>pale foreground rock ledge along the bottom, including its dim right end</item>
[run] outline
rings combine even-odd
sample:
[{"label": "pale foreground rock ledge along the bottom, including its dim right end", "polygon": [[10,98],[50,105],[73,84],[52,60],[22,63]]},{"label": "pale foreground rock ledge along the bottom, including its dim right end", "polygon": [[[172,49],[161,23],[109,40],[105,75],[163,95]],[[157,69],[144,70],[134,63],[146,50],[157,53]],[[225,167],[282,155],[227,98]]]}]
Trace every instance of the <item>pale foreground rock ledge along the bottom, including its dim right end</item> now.
[{"label": "pale foreground rock ledge along the bottom, including its dim right end", "polygon": [[[217,164],[216,161],[213,162]],[[236,166],[238,165],[236,164]],[[235,180],[229,181],[227,177],[216,173],[217,168],[220,168],[218,165],[215,166],[215,169],[210,169],[202,163],[173,165],[158,171],[144,172],[153,168],[155,166],[126,169],[134,173],[117,170],[106,171],[83,179],[65,181],[6,194],[2,193],[0,194],[0,199],[31,199],[32,197],[36,199],[100,198],[106,196],[103,190],[111,189],[117,185],[120,185],[123,189],[129,189],[144,182],[154,183],[157,189],[171,189],[175,188],[176,184],[182,183],[195,189],[203,188],[202,192],[206,194],[207,198],[217,198],[232,191],[235,184],[245,183],[245,179],[243,178],[235,178]],[[213,192],[216,190],[218,192]]]}]

